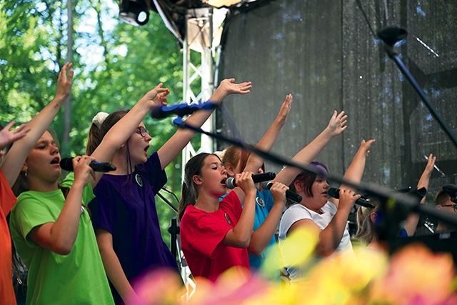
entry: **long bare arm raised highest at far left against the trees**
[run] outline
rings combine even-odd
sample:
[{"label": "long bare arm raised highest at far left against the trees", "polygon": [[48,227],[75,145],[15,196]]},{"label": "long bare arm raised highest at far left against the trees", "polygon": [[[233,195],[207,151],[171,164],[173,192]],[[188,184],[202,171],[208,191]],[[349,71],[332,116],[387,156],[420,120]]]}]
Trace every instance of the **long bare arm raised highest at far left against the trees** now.
[{"label": "long bare arm raised highest at far left against the trees", "polygon": [[70,68],[70,63],[66,63],[62,66],[59,73],[59,79],[57,79],[56,96],[34,117],[34,119],[31,119],[31,121],[26,124],[26,129],[30,129],[30,131],[24,138],[14,142],[9,154],[6,154],[5,161],[1,164],[1,169],[4,172],[6,179],[8,179],[10,186],[16,181],[29,151],[34,147],[36,141],[44,134],[44,131],[48,129],[49,125],[54,120],[54,117],[59,112],[59,109],[66,99],[68,99],[74,74],[73,70],[69,70]]}]

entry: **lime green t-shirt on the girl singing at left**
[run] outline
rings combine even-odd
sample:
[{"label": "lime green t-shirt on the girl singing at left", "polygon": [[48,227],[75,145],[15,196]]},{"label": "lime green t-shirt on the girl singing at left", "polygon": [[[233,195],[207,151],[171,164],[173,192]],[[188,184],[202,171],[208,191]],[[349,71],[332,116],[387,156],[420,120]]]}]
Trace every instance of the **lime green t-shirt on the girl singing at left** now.
[{"label": "lime green t-shirt on the girl singing at left", "polygon": [[[70,187],[74,174],[62,186]],[[91,184],[83,191],[83,203],[94,199]],[[101,262],[89,212],[84,209],[78,235],[68,255],[44,249],[26,236],[31,229],[55,222],[64,207],[60,189],[49,193],[26,191],[19,195],[11,211],[11,237],[21,259],[29,269],[27,304],[114,304]]]}]

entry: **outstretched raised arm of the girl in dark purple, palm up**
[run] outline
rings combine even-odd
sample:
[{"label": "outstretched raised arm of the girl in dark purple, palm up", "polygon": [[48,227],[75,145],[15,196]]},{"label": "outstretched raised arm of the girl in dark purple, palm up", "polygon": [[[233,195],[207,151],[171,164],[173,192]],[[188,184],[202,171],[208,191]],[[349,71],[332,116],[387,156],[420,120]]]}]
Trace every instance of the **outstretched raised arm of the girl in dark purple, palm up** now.
[{"label": "outstretched raised arm of the girl in dark purple, palm up", "polygon": [[[217,87],[214,94],[210,97],[210,101],[214,104],[221,104],[221,102],[229,94],[248,94],[251,89],[251,82],[244,82],[241,84],[235,84],[235,79],[224,79],[221,84]],[[186,123],[192,126],[200,127],[213,113],[213,110],[200,110],[196,111],[195,114],[189,116],[186,119]],[[161,146],[157,154],[161,163],[161,168],[165,169],[167,165],[178,156],[178,154],[186,147],[186,145],[194,137],[195,131],[189,129],[178,129],[176,133],[171,136],[169,141]]]}]

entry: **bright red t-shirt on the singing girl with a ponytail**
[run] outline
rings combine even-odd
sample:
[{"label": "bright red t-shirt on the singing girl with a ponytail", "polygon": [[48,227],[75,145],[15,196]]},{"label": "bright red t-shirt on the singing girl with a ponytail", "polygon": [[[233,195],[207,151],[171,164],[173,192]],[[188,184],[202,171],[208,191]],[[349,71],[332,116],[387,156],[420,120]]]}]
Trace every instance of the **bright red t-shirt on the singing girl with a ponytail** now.
[{"label": "bright red t-shirt on the singing girl with a ponytail", "polygon": [[222,242],[241,216],[241,202],[234,191],[219,202],[219,209],[209,213],[187,206],[181,219],[181,248],[194,277],[216,281],[233,266],[249,270],[248,249],[226,246]]}]

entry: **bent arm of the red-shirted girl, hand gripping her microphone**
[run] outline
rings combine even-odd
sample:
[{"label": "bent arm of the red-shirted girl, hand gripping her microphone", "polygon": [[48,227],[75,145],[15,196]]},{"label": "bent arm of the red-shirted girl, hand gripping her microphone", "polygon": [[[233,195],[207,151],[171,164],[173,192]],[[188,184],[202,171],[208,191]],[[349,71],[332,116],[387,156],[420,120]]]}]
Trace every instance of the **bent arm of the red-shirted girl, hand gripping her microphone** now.
[{"label": "bent arm of the red-shirted girl, hand gripping her microphone", "polygon": [[[251,242],[252,230],[254,227],[254,215],[256,214],[256,186],[252,181],[252,172],[243,171],[241,174],[236,174],[236,184],[239,186],[236,189],[242,190],[246,195],[240,198],[244,200],[243,211],[236,226],[227,232],[223,239],[226,246],[234,246],[236,248],[247,248]],[[235,191],[235,190],[233,190]],[[237,190],[237,194],[238,194]]]}]

